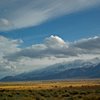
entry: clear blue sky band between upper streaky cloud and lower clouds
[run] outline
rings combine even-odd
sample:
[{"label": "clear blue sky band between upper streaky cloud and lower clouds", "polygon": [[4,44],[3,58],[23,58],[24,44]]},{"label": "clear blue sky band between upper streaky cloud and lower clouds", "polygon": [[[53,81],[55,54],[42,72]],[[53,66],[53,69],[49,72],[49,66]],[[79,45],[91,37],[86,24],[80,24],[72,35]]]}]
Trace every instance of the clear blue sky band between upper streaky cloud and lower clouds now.
[{"label": "clear blue sky band between upper streaky cloud and lower clouds", "polygon": [[68,41],[100,35],[100,6],[60,16],[35,27],[1,31],[0,34],[24,40],[23,47],[40,43],[52,34]]}]

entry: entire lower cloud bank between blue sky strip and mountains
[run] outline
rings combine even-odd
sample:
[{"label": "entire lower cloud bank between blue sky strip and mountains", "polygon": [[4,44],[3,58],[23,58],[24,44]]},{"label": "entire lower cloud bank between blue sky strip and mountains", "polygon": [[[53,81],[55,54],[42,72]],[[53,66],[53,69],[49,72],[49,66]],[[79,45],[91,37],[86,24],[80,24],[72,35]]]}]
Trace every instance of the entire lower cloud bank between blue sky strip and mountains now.
[{"label": "entire lower cloud bank between blue sky strip and mountains", "polygon": [[0,75],[17,74],[63,61],[100,58],[99,36],[65,42],[51,35],[41,44],[20,48],[22,42],[0,36]]}]

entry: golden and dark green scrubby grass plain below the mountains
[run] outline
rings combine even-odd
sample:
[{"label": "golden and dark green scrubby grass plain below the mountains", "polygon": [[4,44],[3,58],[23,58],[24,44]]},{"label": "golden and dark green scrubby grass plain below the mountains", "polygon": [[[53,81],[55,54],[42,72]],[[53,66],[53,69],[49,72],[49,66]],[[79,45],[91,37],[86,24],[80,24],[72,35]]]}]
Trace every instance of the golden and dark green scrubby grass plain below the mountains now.
[{"label": "golden and dark green scrubby grass plain below the mountains", "polygon": [[100,80],[1,82],[0,100],[100,100]]}]

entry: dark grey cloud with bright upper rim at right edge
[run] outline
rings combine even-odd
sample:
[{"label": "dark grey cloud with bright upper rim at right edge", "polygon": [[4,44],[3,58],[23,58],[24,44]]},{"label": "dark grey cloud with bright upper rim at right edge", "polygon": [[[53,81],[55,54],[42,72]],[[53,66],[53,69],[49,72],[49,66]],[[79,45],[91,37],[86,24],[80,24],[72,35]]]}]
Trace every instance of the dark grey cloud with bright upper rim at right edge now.
[{"label": "dark grey cloud with bright upper rim at right edge", "polygon": [[81,48],[87,53],[97,53],[100,54],[100,37],[95,36],[88,39],[81,39],[73,43],[74,47]]}]

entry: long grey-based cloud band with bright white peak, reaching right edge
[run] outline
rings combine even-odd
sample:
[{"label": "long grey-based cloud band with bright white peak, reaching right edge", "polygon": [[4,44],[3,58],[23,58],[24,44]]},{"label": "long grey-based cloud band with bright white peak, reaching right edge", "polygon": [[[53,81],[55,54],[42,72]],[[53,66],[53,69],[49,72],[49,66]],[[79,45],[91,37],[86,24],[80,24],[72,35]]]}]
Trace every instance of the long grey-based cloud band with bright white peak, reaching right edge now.
[{"label": "long grey-based cloud band with bright white peak, reaching right edge", "polygon": [[9,59],[16,60],[20,57],[29,58],[68,58],[82,54],[100,54],[100,37],[82,39],[73,43],[67,43],[58,36],[51,35],[42,44],[35,44],[24,48],[10,56]]}]

